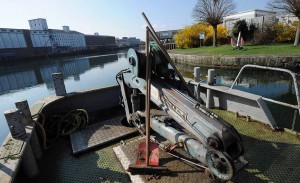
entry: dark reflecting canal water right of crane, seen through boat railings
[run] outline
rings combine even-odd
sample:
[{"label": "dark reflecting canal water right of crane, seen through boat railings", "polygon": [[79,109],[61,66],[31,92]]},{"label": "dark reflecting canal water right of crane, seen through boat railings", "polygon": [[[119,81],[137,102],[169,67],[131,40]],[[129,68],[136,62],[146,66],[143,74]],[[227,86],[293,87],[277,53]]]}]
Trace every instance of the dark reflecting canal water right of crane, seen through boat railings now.
[{"label": "dark reflecting canal water right of crane, seen through boat railings", "polygon": [[[178,64],[178,68],[185,77],[193,78],[194,67]],[[208,69],[211,68],[201,67],[203,82],[206,82]],[[216,84],[224,86],[231,86],[239,72],[239,69],[229,68],[215,68],[215,70]],[[299,88],[299,85],[297,87]],[[246,69],[234,89],[297,105],[294,83],[287,73]],[[297,110],[271,102],[266,103],[279,126],[300,131],[300,117]]]}]

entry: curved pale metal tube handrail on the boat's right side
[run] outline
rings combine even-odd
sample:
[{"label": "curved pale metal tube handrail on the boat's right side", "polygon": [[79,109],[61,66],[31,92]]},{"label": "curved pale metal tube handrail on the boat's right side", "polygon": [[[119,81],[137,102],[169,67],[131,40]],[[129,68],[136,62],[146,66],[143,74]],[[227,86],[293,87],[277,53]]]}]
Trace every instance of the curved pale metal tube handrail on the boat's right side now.
[{"label": "curved pale metal tube handrail on the boat's right side", "polygon": [[285,102],[280,102],[280,101],[273,100],[273,99],[269,99],[269,98],[264,98],[264,97],[263,97],[263,100],[266,100],[266,101],[272,102],[272,103],[276,103],[276,104],[280,104],[280,105],[284,105],[284,106],[287,106],[287,107],[291,107],[291,108],[294,108],[294,109],[298,109],[299,110],[299,114],[300,114],[300,97],[299,97],[299,90],[298,90],[298,83],[297,83],[296,73],[294,73],[294,72],[292,72],[292,71],[290,71],[288,69],[281,69],[281,68],[275,68],[275,67],[266,67],[266,66],[260,66],[260,65],[244,65],[241,68],[241,70],[239,71],[238,75],[236,76],[236,78],[235,78],[234,82],[232,83],[230,89],[233,88],[233,86],[235,85],[235,83],[239,79],[240,75],[242,74],[243,70],[245,68],[249,68],[249,67],[250,68],[257,68],[257,69],[280,71],[280,72],[285,72],[285,73],[290,74],[292,76],[292,78],[293,78],[295,92],[296,92],[296,99],[297,99],[298,106],[292,105],[292,104],[288,104],[288,103],[285,103]]}]

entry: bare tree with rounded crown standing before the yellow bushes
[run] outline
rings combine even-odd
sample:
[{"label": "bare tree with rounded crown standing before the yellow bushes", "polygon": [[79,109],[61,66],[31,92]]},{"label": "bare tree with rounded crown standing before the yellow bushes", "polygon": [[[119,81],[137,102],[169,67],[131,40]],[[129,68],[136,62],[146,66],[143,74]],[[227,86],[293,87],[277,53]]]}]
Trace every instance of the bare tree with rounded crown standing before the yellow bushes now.
[{"label": "bare tree with rounded crown standing before the yellow bushes", "polygon": [[217,46],[217,26],[223,17],[235,9],[233,0],[198,0],[193,17],[199,22],[207,22],[214,29],[213,46]]}]

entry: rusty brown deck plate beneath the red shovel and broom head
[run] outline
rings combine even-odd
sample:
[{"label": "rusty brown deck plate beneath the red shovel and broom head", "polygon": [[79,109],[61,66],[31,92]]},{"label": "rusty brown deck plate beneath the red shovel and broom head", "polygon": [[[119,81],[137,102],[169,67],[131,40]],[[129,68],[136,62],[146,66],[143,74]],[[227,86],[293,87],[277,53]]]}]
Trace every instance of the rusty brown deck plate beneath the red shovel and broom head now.
[{"label": "rusty brown deck plate beneath the red shovel and broom head", "polygon": [[[129,164],[135,163],[137,156],[137,149],[140,142],[145,141],[145,138],[134,139],[126,143],[126,145],[120,145],[113,148],[117,158],[122,164],[123,168],[126,170]],[[188,159],[190,161],[195,160],[187,155],[184,150],[176,149],[176,154]],[[166,152],[159,151],[159,165],[166,166],[170,172],[163,174],[161,176],[156,175],[138,175],[126,172],[131,182],[142,183],[142,182],[214,182],[209,179],[207,175],[204,174],[203,169],[200,169],[194,165],[182,162]]]}]

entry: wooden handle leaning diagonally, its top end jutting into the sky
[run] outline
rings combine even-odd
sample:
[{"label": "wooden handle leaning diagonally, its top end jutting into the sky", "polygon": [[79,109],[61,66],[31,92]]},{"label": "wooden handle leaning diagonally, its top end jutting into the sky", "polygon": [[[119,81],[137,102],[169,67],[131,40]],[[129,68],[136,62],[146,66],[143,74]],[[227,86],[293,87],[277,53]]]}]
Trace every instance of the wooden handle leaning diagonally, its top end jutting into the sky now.
[{"label": "wooden handle leaning diagonally, its top end jutting into the sky", "polygon": [[193,95],[192,90],[189,88],[189,86],[187,85],[187,83],[185,82],[185,80],[183,79],[183,77],[181,76],[180,72],[178,71],[178,69],[176,68],[174,62],[172,61],[172,59],[170,58],[168,52],[166,51],[166,49],[164,49],[164,47],[162,46],[161,42],[159,41],[155,30],[153,29],[151,23],[149,22],[147,16],[145,15],[145,13],[142,13],[145,21],[148,24],[148,30],[149,33],[151,34],[152,38],[154,39],[154,41],[156,42],[157,46],[160,48],[160,50],[163,52],[164,56],[166,57],[166,59],[168,60],[168,62],[170,63],[170,65],[173,67],[174,71],[176,72],[177,76],[180,79],[180,82],[182,83],[182,85],[185,87],[185,89],[187,90],[188,94],[190,97],[195,98],[195,96]]}]

